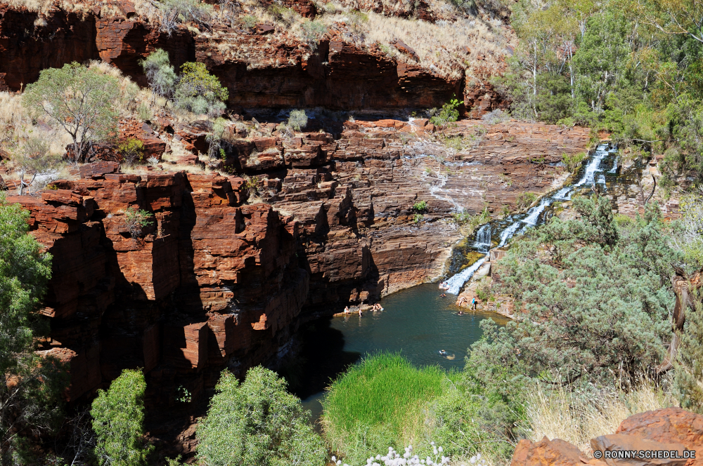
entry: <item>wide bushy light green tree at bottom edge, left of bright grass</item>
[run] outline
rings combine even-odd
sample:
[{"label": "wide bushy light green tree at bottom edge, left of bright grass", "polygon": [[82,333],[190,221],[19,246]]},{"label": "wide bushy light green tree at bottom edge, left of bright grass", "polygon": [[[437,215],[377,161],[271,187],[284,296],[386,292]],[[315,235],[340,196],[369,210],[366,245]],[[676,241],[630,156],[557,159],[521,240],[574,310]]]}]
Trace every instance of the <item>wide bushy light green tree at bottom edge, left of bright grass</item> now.
[{"label": "wide bushy light green tree at bottom edge, left of bright grass", "polygon": [[322,466],[325,446],[286,382],[262,367],[240,385],[224,371],[198,425],[198,460],[209,466]]}]

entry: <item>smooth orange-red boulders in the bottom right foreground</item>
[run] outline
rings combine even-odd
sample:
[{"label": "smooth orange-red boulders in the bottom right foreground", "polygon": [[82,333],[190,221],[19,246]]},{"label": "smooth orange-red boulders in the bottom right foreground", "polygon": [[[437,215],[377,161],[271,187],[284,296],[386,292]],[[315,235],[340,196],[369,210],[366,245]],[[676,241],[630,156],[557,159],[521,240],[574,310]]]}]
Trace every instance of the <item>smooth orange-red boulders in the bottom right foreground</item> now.
[{"label": "smooth orange-red boulders in the bottom right foreground", "polygon": [[[521,440],[510,466],[697,466],[703,464],[697,453],[702,447],[703,415],[681,408],[664,408],[633,415],[621,422],[614,434],[592,439],[591,448],[602,453],[600,459],[591,458],[567,441],[544,437],[537,443]],[[617,451],[678,452],[681,458],[608,458],[609,453]],[[683,458],[687,451],[696,451],[695,458]]]}]

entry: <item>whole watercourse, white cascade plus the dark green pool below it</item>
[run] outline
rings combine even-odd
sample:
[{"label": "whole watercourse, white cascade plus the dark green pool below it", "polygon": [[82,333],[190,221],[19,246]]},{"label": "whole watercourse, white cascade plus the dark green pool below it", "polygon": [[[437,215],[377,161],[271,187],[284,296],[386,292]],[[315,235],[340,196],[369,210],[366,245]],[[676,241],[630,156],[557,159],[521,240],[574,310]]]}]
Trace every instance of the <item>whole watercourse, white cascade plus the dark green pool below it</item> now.
[{"label": "whole watercourse, white cascade plus the dark green pool below it", "polygon": [[[388,295],[380,301],[382,312],[365,312],[363,317],[327,317],[312,321],[302,328],[300,357],[283,370],[291,390],[303,400],[305,408],[319,418],[325,387],[349,364],[375,352],[400,352],[413,364],[439,364],[446,370],[460,371],[467,349],[482,334],[479,322],[491,318],[498,324],[508,320],[494,312],[469,311],[457,314],[456,295],[486,261],[491,248],[505,246],[510,238],[529,227],[541,225],[553,215],[553,204],[569,201],[573,194],[601,191],[627,197],[638,195],[629,189],[633,175],[641,171],[637,162],[631,168],[619,166],[617,149],[599,145],[591,151],[577,173],[560,189],[546,194],[527,212],[492,220],[477,229],[472,239],[453,248],[449,265],[449,290],[441,298],[437,284],[423,284]],[[479,258],[466,263],[467,253]],[[340,309],[341,310],[341,309]],[[444,349],[447,356],[439,354]]]}]

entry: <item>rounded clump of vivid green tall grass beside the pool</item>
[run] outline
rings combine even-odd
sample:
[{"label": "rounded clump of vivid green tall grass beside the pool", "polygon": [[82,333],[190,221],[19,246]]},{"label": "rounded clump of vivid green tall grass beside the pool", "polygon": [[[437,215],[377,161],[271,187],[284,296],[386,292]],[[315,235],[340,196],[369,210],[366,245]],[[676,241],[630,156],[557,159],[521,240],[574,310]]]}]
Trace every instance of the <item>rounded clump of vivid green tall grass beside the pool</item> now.
[{"label": "rounded clump of vivid green tall grass beside the pool", "polygon": [[323,402],[323,426],[333,450],[362,464],[389,446],[429,442],[425,407],[444,393],[447,373],[417,368],[400,354],[376,354],[333,382]]}]

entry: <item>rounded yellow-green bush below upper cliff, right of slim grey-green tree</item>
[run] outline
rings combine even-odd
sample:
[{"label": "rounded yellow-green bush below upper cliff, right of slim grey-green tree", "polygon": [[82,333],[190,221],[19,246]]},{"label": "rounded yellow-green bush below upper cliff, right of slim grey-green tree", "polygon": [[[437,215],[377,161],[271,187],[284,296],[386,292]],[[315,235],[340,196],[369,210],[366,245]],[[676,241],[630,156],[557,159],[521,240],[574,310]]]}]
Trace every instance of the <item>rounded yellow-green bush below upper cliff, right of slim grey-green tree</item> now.
[{"label": "rounded yellow-green bush below upper cliff, right of slim grey-green tree", "polygon": [[209,74],[205,63],[183,64],[174,98],[176,107],[214,115],[226,109],[224,102],[227,98],[227,88],[220,85],[217,76]]}]

